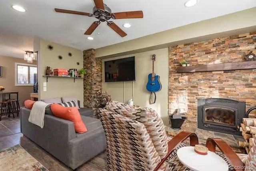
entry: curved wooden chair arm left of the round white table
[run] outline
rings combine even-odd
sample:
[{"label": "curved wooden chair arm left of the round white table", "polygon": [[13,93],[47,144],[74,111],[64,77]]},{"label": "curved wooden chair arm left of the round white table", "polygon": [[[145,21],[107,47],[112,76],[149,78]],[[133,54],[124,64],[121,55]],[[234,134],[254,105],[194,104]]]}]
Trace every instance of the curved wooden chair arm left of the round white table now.
[{"label": "curved wooden chair arm left of the round white table", "polygon": [[178,133],[175,137],[173,137],[169,142],[168,142],[168,153],[167,155],[158,163],[157,167],[154,169],[154,171],[157,171],[160,169],[162,164],[168,159],[170,154],[176,149],[176,147],[185,141],[187,138],[190,138],[190,145],[194,146],[198,144],[198,137],[195,133],[189,132],[189,131],[181,131]]}]

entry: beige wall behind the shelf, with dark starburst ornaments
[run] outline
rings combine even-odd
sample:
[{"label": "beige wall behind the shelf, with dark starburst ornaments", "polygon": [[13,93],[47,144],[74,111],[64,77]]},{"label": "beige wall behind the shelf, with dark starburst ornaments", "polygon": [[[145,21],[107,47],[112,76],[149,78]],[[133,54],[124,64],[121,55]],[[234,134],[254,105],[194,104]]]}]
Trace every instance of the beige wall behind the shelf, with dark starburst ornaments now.
[{"label": "beige wall behind the shelf, with dark starburst ornaments", "polygon": [[[47,46],[53,46],[53,50],[48,50]],[[35,40],[34,51],[38,50],[38,95],[40,99],[73,96],[77,97],[83,105],[83,80],[77,79],[74,83],[72,78],[48,78],[46,83],[46,91],[43,91],[43,83],[46,82],[45,75],[46,67],[50,66],[53,69],[71,69],[80,70],[83,68],[83,52],[67,46],[62,46],[46,40]],[[72,56],[68,56],[68,53]],[[58,58],[62,56],[62,60]],[[80,65],[76,63],[79,62]]]}]

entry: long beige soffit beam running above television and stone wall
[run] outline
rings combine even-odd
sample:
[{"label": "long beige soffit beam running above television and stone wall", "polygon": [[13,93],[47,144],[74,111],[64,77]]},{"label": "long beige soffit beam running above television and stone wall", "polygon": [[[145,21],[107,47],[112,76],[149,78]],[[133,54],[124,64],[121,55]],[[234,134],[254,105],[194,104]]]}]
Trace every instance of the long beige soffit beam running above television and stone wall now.
[{"label": "long beige soffit beam running above television and stone wall", "polygon": [[124,56],[178,44],[252,32],[256,7],[96,49],[96,57]]}]

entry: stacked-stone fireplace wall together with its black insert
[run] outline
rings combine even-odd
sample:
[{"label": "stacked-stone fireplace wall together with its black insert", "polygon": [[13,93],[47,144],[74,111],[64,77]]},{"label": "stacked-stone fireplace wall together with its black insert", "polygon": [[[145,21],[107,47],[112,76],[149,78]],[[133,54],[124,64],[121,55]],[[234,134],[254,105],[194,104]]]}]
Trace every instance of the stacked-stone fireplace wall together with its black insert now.
[{"label": "stacked-stone fireplace wall together with its black insert", "polygon": [[[250,51],[256,53],[256,32],[169,48],[168,114],[181,109],[187,117],[182,130],[200,128],[238,135],[237,125],[245,111],[256,106],[256,70],[178,73],[180,62],[186,60],[190,66],[243,62]],[[225,113],[228,119],[216,113]],[[256,110],[250,117],[256,117]]]}]

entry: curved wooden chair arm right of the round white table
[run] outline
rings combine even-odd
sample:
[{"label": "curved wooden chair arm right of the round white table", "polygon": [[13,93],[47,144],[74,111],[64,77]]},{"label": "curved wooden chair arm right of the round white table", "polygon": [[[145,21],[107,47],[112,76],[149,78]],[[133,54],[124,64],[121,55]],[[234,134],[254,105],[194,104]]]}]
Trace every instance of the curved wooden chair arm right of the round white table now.
[{"label": "curved wooden chair arm right of the round white table", "polygon": [[216,146],[220,149],[222,153],[224,153],[227,157],[227,159],[230,161],[230,164],[232,166],[236,166],[237,168],[241,169],[235,169],[236,171],[244,171],[244,163],[241,161],[241,159],[236,155],[234,150],[222,139],[219,138],[208,138],[206,140],[206,147],[215,153]]}]

